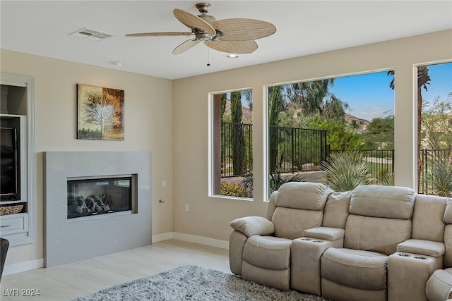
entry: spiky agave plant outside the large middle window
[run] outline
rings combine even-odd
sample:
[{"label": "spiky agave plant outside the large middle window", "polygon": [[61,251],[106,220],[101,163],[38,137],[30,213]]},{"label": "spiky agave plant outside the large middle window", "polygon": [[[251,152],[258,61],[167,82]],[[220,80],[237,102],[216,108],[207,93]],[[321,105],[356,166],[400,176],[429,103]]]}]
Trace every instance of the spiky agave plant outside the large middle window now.
[{"label": "spiky agave plant outside the large middle window", "polygon": [[322,166],[325,184],[335,191],[348,191],[373,182],[369,164],[358,152],[331,154]]}]

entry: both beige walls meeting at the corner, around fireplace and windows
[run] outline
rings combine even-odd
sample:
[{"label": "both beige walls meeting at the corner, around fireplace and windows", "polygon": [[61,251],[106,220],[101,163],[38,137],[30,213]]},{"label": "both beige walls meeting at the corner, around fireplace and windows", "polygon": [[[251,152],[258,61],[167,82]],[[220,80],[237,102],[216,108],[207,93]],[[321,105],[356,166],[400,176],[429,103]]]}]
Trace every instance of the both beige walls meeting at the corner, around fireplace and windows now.
[{"label": "both beige walls meeting at the corner, around fireplace and windows", "polygon": [[[227,241],[232,219],[266,211],[264,85],[394,68],[396,185],[415,187],[415,64],[440,61],[452,61],[452,30],[174,81],[1,50],[2,72],[35,78],[37,153],[37,241],[13,247],[6,264],[42,258],[45,151],[151,151],[153,235],[176,232]],[[75,139],[76,83],[125,90],[126,140]],[[248,87],[254,91],[254,201],[208,197],[208,93]],[[167,180],[165,190],[162,180]]]}]

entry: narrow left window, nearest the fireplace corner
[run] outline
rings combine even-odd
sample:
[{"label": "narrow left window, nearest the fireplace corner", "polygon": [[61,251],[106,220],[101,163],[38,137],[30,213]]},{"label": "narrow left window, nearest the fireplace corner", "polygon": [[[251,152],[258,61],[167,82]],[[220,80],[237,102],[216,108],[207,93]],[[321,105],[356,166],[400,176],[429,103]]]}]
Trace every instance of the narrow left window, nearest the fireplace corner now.
[{"label": "narrow left window, nearest the fireplace corner", "polygon": [[211,95],[210,195],[253,197],[251,90]]}]

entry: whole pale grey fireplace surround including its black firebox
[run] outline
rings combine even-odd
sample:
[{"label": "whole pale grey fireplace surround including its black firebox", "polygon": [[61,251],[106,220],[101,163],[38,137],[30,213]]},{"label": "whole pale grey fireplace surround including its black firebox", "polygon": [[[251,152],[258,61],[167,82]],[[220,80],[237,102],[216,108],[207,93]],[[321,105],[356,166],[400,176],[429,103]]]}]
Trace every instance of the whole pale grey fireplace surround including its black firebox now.
[{"label": "whole pale grey fireplace surround including its black firebox", "polygon": [[44,266],[152,243],[150,152],[44,152]]}]

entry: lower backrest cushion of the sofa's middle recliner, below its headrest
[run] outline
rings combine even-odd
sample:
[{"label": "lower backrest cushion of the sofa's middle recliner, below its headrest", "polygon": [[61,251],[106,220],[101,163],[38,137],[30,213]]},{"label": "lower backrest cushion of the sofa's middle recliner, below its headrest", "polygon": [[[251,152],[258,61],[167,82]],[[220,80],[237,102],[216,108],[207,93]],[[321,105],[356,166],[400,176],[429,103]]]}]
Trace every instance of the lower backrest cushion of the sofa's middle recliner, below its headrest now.
[{"label": "lower backrest cushion of the sofa's middle recliner, below its headrest", "polygon": [[410,239],[410,235],[410,219],[350,214],[345,226],[344,247],[389,255],[396,252],[400,242]]}]

